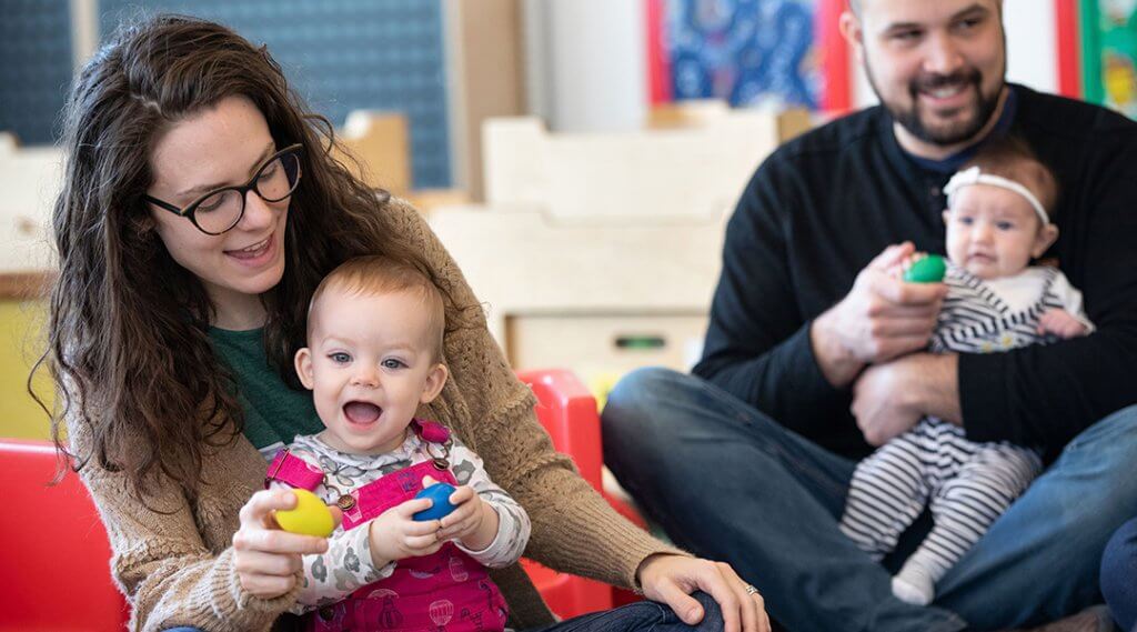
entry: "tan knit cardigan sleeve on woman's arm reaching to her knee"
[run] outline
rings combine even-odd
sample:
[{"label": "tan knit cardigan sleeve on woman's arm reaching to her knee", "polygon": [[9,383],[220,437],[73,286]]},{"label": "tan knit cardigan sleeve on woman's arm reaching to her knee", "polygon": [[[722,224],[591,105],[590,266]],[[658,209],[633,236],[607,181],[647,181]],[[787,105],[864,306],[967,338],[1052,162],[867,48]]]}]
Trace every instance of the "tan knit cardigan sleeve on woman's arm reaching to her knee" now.
[{"label": "tan knit cardigan sleeve on woman's arm reaching to her knee", "polygon": [[473,322],[447,334],[451,374],[447,388],[457,389],[468,408],[466,443],[530,516],[526,557],[556,571],[634,587],[636,571],[648,556],[688,555],[620,516],[580,477],[572,459],[553,449],[533,413],[533,393],[514,375],[490,335],[457,264],[415,209],[392,200],[389,210],[397,214],[412,243],[421,247],[455,302],[473,307],[467,309]]}]

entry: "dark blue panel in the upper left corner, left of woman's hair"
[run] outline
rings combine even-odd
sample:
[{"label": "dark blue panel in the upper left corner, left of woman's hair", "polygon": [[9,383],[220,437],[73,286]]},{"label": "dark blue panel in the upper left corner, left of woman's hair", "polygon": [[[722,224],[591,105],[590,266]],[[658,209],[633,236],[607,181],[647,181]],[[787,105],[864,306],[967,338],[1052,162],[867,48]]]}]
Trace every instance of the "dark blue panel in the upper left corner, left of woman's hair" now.
[{"label": "dark blue panel in the upper left corner, left of woman's hair", "polygon": [[58,140],[72,80],[67,0],[0,0],[0,131],[23,144]]}]

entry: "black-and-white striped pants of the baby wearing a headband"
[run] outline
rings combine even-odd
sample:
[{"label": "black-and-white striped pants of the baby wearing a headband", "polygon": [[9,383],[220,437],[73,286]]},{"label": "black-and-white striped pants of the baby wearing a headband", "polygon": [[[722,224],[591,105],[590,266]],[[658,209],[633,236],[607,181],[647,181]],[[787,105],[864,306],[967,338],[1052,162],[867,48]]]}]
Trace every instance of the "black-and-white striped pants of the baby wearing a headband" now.
[{"label": "black-and-white striped pants of the baby wearing a headband", "polygon": [[906,564],[935,582],[1040,471],[1032,450],[974,443],[963,429],[928,417],[857,465],[841,531],[880,560],[927,504],[935,525]]}]

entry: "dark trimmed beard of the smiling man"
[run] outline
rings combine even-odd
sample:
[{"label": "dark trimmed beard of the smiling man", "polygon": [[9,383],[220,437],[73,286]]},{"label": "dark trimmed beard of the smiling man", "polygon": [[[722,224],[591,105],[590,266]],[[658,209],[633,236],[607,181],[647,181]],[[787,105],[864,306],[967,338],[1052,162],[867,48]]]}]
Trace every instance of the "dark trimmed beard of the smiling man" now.
[{"label": "dark trimmed beard of the smiling man", "polygon": [[[877,94],[881,105],[885,106],[885,109],[893,116],[893,119],[899,123],[913,136],[937,145],[953,145],[974,138],[987,125],[991,116],[994,116],[995,110],[998,108],[999,94],[1003,92],[1003,82],[999,82],[997,89],[991,94],[984,94],[984,77],[978,68],[963,68],[951,75],[921,73],[908,82],[908,95],[912,106],[905,108],[898,103],[887,101],[881,95],[869,64],[864,65],[864,70],[869,77],[869,84],[872,85],[872,91]],[[922,109],[920,93],[956,86],[961,86],[964,90],[966,88],[974,88],[974,100],[962,108],[969,110],[970,114],[961,120],[946,125],[936,125],[932,123],[930,113]]]}]

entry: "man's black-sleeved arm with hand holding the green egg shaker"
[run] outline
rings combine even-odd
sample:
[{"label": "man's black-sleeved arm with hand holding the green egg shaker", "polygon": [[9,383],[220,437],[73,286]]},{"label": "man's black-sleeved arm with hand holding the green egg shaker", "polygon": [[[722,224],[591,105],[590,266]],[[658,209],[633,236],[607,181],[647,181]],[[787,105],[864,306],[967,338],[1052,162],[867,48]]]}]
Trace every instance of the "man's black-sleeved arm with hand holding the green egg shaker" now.
[{"label": "man's black-sleeved arm with hand holding the green egg shaker", "polygon": [[890,275],[913,251],[910,243],[893,246],[841,301],[807,321],[786,256],[797,181],[791,168],[767,160],[739,201],[695,374],[811,436],[845,415],[846,388],[866,363],[927,344],[945,288]]}]

